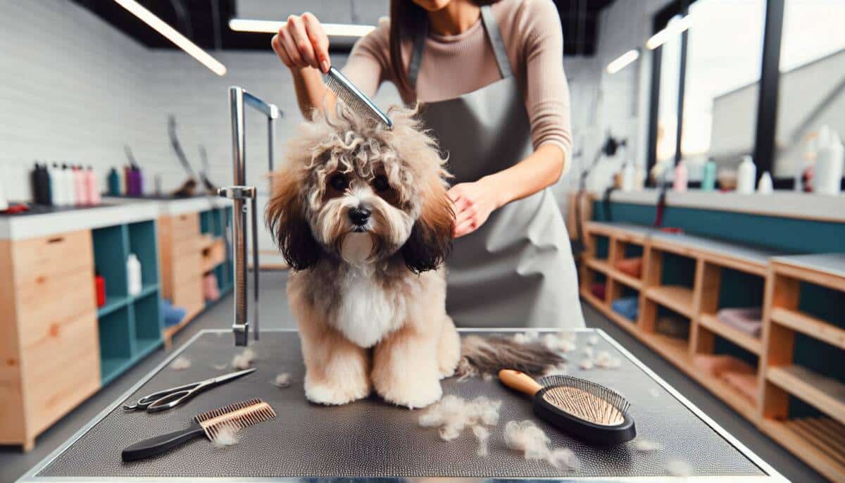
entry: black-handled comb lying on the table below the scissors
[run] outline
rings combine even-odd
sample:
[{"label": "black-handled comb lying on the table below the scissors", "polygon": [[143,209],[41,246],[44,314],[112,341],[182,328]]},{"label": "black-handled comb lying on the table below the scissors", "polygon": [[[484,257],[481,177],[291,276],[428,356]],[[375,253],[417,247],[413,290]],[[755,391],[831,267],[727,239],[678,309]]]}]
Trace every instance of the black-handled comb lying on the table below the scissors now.
[{"label": "black-handled comb lying on the table below the scissors", "polygon": [[161,436],[150,437],[142,442],[136,442],[123,450],[123,461],[149,458],[155,454],[164,453],[168,449],[176,448],[183,442],[195,437],[204,436],[213,440],[224,427],[234,431],[259,422],[275,418],[275,411],[270,404],[261,399],[249,399],[235,404],[229,404],[216,410],[194,416],[188,429],[169,432]]}]

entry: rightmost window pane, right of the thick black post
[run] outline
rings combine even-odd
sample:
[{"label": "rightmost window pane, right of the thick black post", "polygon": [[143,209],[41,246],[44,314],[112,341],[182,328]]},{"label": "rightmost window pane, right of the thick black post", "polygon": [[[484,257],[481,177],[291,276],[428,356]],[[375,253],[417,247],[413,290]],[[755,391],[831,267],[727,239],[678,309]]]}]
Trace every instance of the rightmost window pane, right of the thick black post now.
[{"label": "rightmost window pane, right of the thick black post", "polygon": [[841,0],[786,0],[775,134],[776,176],[793,177],[813,163],[815,137],[822,126],[845,137],[842,19],[845,2]]}]

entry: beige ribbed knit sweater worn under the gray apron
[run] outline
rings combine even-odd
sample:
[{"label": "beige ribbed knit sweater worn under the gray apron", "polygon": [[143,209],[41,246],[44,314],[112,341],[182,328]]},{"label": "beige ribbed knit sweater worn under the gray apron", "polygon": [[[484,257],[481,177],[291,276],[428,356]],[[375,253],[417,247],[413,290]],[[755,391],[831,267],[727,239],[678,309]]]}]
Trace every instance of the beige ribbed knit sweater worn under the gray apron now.
[{"label": "beige ribbed knit sweater worn under the gray apron", "polygon": [[[411,0],[407,0],[410,2]],[[564,150],[570,166],[570,91],[564,73],[564,40],[557,8],[551,0],[501,0],[493,3],[505,48],[531,122],[532,142],[555,144]],[[407,72],[413,41],[402,48]],[[383,23],[352,48],[343,72],[367,95],[379,84],[393,79],[390,68],[389,25]],[[417,77],[417,93],[423,102],[446,100],[467,94],[501,79],[493,48],[481,18],[458,35],[428,34]],[[398,85],[398,84],[397,84]],[[400,90],[402,100],[415,100]]]}]

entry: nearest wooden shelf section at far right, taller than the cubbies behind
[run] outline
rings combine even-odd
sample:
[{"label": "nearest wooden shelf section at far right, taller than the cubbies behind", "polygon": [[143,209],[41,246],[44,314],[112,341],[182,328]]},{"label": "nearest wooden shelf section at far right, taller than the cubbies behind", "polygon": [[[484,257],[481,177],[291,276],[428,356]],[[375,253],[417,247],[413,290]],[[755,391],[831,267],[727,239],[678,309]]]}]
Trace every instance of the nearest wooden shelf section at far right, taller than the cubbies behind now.
[{"label": "nearest wooden shelf section at far right, taller than the cubbies behind", "polygon": [[[845,254],[772,258],[766,280],[760,428],[831,480],[845,480],[845,383],[795,360],[800,334],[835,350],[845,349],[845,330],[802,312],[802,285],[845,292]],[[842,323],[842,321],[839,321]],[[839,357],[835,361],[842,361]],[[832,361],[831,361],[832,362]],[[796,398],[819,416],[791,414]]]}]

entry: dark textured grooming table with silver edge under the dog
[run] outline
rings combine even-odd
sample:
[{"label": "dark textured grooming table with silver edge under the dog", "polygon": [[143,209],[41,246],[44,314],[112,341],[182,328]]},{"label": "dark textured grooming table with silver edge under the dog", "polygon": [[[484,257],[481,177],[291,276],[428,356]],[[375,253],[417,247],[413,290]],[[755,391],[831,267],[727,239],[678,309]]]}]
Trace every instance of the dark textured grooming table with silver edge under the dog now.
[{"label": "dark textured grooming table with silver edge under the dog", "polygon": [[[524,329],[523,329],[524,330]],[[463,331],[462,334],[506,334],[503,331]],[[596,353],[608,350],[622,360],[616,369],[582,371],[587,338],[599,335]],[[490,428],[490,455],[476,455],[477,441],[466,428],[458,439],[445,442],[436,428],[417,425],[421,410],[385,404],[377,396],[338,407],[309,404],[303,393],[305,368],[295,331],[264,331],[253,344],[258,371],[199,394],[183,406],[165,413],[125,413],[121,405],[164,388],[231,372],[228,364],[239,353],[228,330],[205,330],[144,377],[121,399],[90,421],[68,442],[30,469],[19,481],[172,481],[184,480],[553,480],[658,481],[671,480],[667,464],[673,460],[690,465],[692,475],[708,481],[783,481],[777,471],[751,453],[657,377],[640,361],[602,331],[578,331],[578,350],[569,353],[569,372],[608,385],[632,404],[638,437],[658,442],[652,453],[635,450],[634,442],[615,448],[592,448],[538,420],[529,399],[504,388],[498,381],[476,377],[465,382],[444,381],[444,393],[471,399],[480,395],[503,401],[499,424]],[[192,365],[183,371],[168,367],[177,355]],[[271,384],[279,372],[290,372],[290,388]],[[413,377],[413,374],[408,374]],[[277,417],[240,433],[240,442],[214,448],[204,439],[152,459],[124,464],[123,448],[146,437],[188,427],[203,411],[235,401],[261,398]],[[542,461],[526,461],[504,445],[507,421],[530,419],[552,439],[552,448],[575,451],[581,460],[576,472],[554,469]],[[699,480],[694,478],[694,480]]]}]

